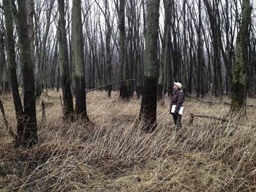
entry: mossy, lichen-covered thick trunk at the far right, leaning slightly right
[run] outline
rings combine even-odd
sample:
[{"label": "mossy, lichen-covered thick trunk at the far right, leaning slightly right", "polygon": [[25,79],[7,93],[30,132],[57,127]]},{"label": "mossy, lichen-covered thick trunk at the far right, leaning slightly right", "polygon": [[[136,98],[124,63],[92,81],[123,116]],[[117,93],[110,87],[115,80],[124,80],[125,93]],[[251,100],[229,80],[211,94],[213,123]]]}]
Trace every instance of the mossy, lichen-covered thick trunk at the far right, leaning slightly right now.
[{"label": "mossy, lichen-covered thick trunk at the far right, leaning slightly right", "polygon": [[246,107],[247,96],[247,62],[248,62],[248,36],[249,22],[251,20],[252,7],[249,0],[243,0],[242,4],[242,22],[238,37],[236,39],[235,62],[232,66],[232,102],[230,111],[238,112]]}]

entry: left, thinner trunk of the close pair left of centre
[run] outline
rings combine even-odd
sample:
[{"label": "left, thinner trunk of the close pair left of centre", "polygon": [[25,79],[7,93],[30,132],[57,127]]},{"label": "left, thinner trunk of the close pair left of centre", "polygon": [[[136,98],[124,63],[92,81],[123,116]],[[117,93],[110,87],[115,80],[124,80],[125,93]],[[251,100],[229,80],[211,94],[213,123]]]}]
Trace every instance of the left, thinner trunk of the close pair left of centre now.
[{"label": "left, thinner trunk of the close pair left of centre", "polygon": [[59,7],[59,69],[61,88],[63,89],[64,118],[72,118],[74,113],[73,98],[70,88],[70,72],[68,66],[68,45],[66,41],[66,21],[64,18],[64,0],[58,0]]}]

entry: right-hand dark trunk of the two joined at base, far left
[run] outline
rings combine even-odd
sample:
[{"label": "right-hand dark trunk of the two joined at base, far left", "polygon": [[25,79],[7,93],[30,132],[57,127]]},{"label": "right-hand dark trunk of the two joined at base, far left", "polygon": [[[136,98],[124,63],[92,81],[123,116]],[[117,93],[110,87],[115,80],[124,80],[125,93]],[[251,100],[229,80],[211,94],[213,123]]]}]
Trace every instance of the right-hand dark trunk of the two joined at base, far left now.
[{"label": "right-hand dark trunk of the two joined at base, far left", "polygon": [[13,13],[16,16],[16,28],[20,43],[20,62],[22,64],[22,77],[24,82],[24,115],[26,126],[20,145],[22,147],[32,147],[38,143],[38,129],[36,122],[36,97],[34,82],[34,65],[32,63],[30,39],[26,22],[26,1],[18,1],[18,11],[14,5]]}]

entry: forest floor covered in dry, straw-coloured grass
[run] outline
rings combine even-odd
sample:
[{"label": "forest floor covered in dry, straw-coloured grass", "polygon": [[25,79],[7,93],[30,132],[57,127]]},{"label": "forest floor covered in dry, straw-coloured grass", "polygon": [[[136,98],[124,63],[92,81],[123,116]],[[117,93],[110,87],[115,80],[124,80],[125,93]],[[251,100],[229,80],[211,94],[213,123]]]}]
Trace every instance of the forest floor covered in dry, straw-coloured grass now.
[{"label": "forest floor covered in dry, straw-coloured grass", "polygon": [[[194,118],[190,112],[228,118],[228,98],[187,98],[177,132],[169,114],[170,101],[157,108],[157,130],[144,133],[138,124],[141,100],[121,101],[118,93],[87,95],[88,116],[63,122],[61,92],[50,91],[42,120],[38,101],[39,143],[13,149],[13,139],[0,114],[0,191],[255,191],[256,107],[228,122]],[[14,130],[11,95],[1,96]],[[256,99],[248,99],[256,105]],[[14,130],[15,132],[15,130]]]}]

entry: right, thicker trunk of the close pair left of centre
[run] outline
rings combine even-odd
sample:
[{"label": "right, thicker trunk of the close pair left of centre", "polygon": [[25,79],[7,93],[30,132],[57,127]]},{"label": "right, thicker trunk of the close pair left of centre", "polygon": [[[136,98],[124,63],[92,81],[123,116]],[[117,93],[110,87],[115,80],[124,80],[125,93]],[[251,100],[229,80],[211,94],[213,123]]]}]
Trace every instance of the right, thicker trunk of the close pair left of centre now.
[{"label": "right, thicker trunk of the close pair left of centre", "polygon": [[86,82],[84,77],[84,40],[82,32],[81,1],[73,0],[72,7],[72,62],[74,64],[74,76],[76,84],[77,115],[89,121],[86,112]]}]

